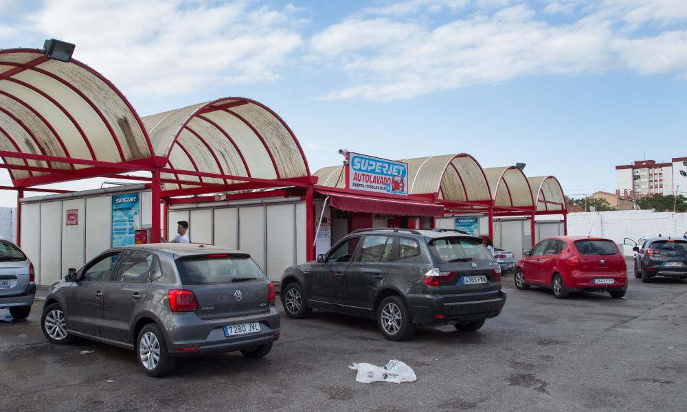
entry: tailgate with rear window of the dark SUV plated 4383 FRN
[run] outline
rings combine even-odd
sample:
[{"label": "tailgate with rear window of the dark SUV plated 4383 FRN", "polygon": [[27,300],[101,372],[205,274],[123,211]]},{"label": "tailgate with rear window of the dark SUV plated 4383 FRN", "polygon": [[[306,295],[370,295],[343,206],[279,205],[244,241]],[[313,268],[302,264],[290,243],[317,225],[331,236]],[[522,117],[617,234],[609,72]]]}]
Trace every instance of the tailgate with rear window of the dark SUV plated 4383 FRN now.
[{"label": "tailgate with rear window of the dark SUV plated 4383 FRN", "polygon": [[501,268],[482,240],[452,236],[435,238],[428,244],[440,272],[439,287],[431,286],[430,293],[453,295],[499,290]]}]

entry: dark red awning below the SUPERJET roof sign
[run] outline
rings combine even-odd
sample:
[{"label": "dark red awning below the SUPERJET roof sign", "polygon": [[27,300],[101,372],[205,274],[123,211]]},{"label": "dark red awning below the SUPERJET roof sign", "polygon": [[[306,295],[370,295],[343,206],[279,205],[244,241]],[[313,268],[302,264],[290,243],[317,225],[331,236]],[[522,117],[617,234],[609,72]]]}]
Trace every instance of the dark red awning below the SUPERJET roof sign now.
[{"label": "dark red awning below the SUPERJET roof sign", "polygon": [[444,207],[435,203],[340,194],[320,190],[317,192],[329,196],[329,205],[341,210],[399,216],[434,216],[435,218],[444,216]]}]

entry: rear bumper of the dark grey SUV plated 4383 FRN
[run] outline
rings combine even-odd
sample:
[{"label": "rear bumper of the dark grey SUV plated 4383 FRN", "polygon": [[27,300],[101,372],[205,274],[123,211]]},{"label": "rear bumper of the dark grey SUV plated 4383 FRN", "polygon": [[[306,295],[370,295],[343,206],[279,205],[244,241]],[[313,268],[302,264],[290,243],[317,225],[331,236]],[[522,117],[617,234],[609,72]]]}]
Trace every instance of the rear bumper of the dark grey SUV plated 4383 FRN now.
[{"label": "rear bumper of the dark grey SUV plated 4383 FRN", "polygon": [[449,321],[471,321],[496,317],[506,304],[506,292],[460,295],[409,295],[413,322],[420,325],[442,325]]}]

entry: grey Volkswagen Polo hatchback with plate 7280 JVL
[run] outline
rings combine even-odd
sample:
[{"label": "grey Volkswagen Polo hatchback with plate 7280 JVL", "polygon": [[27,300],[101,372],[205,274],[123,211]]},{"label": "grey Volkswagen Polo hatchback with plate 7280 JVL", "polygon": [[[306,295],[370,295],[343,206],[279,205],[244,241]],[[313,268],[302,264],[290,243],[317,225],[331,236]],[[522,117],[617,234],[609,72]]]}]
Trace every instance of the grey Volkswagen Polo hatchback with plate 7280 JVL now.
[{"label": "grey Volkswagen Polo hatchback with plate 7280 JVL", "polygon": [[279,339],[274,288],[250,255],[199,244],[140,244],[101,253],[53,284],[41,326],[52,343],[77,337],[135,350],[149,376],[177,357],[269,353]]}]

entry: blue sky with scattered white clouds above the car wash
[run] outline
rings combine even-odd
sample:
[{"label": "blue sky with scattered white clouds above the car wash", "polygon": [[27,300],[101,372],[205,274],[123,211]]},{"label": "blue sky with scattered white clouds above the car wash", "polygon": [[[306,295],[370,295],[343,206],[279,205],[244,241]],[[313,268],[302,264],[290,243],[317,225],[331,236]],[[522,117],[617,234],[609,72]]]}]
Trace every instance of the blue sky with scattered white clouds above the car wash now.
[{"label": "blue sky with scattered white clouds above the car wash", "polygon": [[46,38],[75,43],[141,116],[266,104],[313,172],[339,148],[466,152],[582,197],[614,192],[616,165],[687,156],[684,0],[0,0],[0,48]]}]

